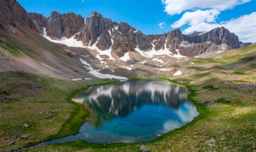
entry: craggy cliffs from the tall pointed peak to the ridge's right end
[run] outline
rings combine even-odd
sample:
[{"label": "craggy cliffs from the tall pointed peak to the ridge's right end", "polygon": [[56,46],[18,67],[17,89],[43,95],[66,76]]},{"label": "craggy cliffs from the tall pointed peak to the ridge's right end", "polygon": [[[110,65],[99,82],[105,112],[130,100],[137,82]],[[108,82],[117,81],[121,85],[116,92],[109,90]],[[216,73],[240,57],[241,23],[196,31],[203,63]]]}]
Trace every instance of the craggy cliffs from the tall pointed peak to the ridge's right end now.
[{"label": "craggy cliffs from the tall pointed peak to the ridge's right end", "polygon": [[[91,13],[82,26],[78,41],[82,41],[85,46],[96,46],[101,50],[112,49],[119,57],[135,48],[148,51],[151,49],[168,49],[173,54],[177,54],[177,49],[181,50],[181,55],[193,57],[207,52],[221,50],[220,44],[227,44],[226,48],[235,49],[240,47],[238,36],[230,33],[224,27],[218,27],[210,32],[197,32],[197,34],[183,35],[180,29],[172,30],[158,35],[144,35],[125,22],[113,22],[112,19],[104,18],[101,14]],[[182,43],[187,41],[184,46]]]}]

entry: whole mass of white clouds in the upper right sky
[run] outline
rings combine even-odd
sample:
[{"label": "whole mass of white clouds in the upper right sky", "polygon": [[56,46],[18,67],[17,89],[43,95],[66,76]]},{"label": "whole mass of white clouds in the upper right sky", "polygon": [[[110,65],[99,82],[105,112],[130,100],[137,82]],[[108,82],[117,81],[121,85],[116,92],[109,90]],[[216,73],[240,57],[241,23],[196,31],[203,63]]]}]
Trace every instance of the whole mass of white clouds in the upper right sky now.
[{"label": "whole mass of white clouds in the upper right sky", "polygon": [[183,13],[182,17],[171,24],[172,28],[179,28],[188,24],[183,33],[193,31],[207,32],[216,27],[224,26],[230,32],[238,35],[241,41],[256,42],[256,12],[233,18],[229,21],[216,22],[223,10],[233,9],[252,0],[162,0],[168,15]]}]

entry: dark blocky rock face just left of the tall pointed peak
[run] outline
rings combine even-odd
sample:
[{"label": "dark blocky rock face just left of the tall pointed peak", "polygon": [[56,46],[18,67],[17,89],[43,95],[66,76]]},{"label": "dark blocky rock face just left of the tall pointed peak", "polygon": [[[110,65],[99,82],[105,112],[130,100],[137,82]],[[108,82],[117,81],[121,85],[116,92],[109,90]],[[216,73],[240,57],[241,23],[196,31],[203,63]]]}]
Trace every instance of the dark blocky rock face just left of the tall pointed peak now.
[{"label": "dark blocky rock face just left of the tall pointed peak", "polygon": [[79,32],[84,24],[84,18],[74,13],[60,14],[52,12],[48,23],[46,24],[46,32],[51,38],[70,38]]}]

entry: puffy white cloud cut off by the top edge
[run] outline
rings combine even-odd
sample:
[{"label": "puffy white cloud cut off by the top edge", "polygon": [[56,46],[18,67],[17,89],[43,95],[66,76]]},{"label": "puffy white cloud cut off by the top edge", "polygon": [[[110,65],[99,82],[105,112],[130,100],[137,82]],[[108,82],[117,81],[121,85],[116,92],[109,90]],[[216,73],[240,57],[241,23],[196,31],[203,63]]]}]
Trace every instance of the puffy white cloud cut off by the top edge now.
[{"label": "puffy white cloud cut off by the top edge", "polygon": [[251,0],[162,0],[165,4],[165,12],[169,15],[180,14],[186,10],[195,9],[232,9],[236,5],[250,2]]}]

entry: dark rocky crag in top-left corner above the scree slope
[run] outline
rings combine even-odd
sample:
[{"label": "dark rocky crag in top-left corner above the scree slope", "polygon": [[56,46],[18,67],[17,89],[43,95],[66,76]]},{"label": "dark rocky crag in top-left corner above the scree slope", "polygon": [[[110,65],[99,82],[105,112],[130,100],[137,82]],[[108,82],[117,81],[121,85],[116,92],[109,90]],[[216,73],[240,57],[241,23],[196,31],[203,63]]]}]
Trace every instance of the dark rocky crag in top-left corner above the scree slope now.
[{"label": "dark rocky crag in top-left corner above the scree slope", "polygon": [[10,26],[37,30],[34,21],[16,0],[0,0],[0,25],[13,33]]}]

